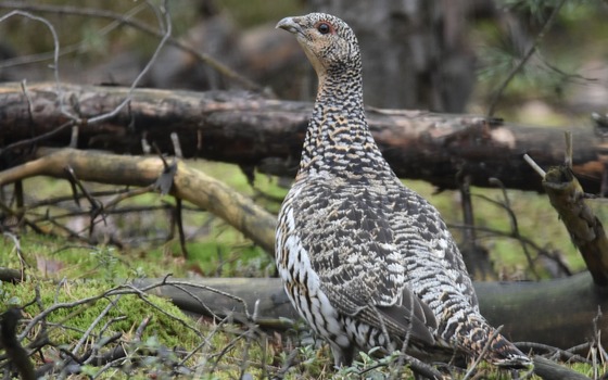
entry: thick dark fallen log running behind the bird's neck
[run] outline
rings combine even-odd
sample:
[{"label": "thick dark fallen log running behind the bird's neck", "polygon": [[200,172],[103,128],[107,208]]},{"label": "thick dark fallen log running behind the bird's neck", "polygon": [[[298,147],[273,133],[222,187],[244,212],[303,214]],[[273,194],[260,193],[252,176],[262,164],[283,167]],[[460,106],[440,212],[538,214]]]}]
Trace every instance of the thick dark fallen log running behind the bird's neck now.
[{"label": "thick dark fallen log running behind the bird's neck", "polygon": [[[300,160],[312,104],[265,99],[249,92],[190,92],[137,89],[128,106],[98,123],[88,119],[112,112],[129,97],[119,87],[36,84],[0,87],[0,154],[3,168],[27,160],[33,145],[102,149],[141,154],[156,145],[173,154],[175,134],[183,157],[204,157],[293,176]],[[64,128],[42,140],[75,115],[75,131]],[[384,156],[402,178],[422,179],[440,189],[470,185],[543,191],[522,160],[530,154],[541,166],[562,161],[559,128],[516,126],[468,115],[423,111],[367,110],[370,129]],[[69,126],[69,125],[68,125]],[[73,136],[77,136],[73,139]],[[574,130],[573,173],[587,192],[600,191],[606,159],[604,143],[592,128]],[[144,141],[144,142],[142,142]],[[11,144],[15,144],[11,147]]]}]

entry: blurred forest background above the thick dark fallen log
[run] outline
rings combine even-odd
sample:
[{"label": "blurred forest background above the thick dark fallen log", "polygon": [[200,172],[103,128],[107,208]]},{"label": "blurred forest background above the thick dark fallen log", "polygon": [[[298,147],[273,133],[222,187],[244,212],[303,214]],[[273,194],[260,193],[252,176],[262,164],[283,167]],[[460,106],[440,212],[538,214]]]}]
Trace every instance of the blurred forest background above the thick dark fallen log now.
[{"label": "blurred forest background above the thick dark fallen log", "polygon": [[[20,8],[55,27],[66,81],[128,85],[160,40],[111,16],[157,29],[159,14],[145,1],[0,1],[7,12]],[[316,78],[295,40],[274,26],[287,15],[321,11],[344,18],[358,36],[368,105],[485,114],[530,49],[499,98],[501,116],[572,123],[605,111],[608,100],[606,1],[179,0],[168,8],[175,38],[281,99],[313,99]],[[11,17],[0,24],[0,80],[52,78],[53,40],[45,25]],[[240,84],[167,46],[141,86]]]}]

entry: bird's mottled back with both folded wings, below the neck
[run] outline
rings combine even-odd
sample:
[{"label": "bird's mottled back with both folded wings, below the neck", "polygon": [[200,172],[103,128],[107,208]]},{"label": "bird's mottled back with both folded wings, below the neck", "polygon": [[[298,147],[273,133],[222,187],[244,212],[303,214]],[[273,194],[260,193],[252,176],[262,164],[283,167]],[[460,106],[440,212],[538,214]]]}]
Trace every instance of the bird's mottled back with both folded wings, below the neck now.
[{"label": "bird's mottled back with both folded wings, below the neck", "polygon": [[308,253],[306,269],[319,277],[341,312],[393,305],[407,289],[440,322],[429,329],[433,334],[444,322],[439,316],[449,314],[451,306],[478,313],[471,281],[441,216],[394,175],[306,177],[294,183],[283,207],[289,211],[281,215],[293,218],[290,236]]}]

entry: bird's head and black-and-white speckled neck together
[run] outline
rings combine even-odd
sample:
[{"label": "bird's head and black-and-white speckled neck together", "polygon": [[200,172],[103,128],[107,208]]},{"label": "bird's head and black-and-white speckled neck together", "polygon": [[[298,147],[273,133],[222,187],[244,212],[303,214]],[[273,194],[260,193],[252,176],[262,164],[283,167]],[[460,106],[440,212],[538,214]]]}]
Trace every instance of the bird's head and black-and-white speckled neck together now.
[{"label": "bird's head and black-and-white speckled neck together", "polygon": [[[282,23],[280,27],[296,35],[319,79],[297,179],[349,174],[391,177],[367,126],[354,33],[343,21],[322,13],[288,17]],[[325,35],[315,29],[322,24],[328,25]]]}]

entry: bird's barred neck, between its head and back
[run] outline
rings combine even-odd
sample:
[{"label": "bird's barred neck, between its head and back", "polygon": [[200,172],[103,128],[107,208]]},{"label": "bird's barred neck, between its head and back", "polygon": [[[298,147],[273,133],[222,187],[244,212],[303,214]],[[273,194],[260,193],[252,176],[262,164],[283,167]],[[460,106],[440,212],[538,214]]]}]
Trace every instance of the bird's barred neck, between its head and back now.
[{"label": "bird's barred neck, between its head and back", "polygon": [[297,177],[307,176],[394,176],[367,126],[360,73],[319,75]]}]

